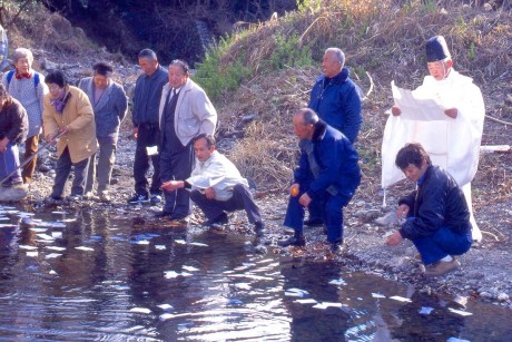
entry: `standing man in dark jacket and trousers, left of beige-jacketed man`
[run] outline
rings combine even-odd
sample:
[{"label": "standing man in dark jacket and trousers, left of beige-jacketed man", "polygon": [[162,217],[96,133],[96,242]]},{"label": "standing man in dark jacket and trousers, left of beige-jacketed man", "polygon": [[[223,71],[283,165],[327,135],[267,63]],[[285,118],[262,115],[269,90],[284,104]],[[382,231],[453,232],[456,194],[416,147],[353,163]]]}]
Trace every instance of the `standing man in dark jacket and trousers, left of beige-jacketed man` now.
[{"label": "standing man in dark jacket and trousers, left of beige-jacketed man", "polygon": [[[134,91],[134,137],[137,139],[134,160],[135,196],[130,204],[161,202],[160,158],[158,154],[148,155],[148,147],[158,146],[158,104],[161,89],[167,82],[167,71],[158,63],[157,55],[150,49],[139,52],[139,66],[144,74],[139,76]],[[148,192],[146,174],[152,162],[152,179]]]}]

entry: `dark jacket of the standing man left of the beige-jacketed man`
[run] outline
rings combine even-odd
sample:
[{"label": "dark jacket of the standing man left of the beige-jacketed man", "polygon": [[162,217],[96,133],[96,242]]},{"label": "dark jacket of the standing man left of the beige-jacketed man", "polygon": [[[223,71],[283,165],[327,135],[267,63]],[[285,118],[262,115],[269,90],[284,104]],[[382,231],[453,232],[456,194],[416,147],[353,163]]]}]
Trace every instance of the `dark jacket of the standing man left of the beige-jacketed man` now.
[{"label": "dark jacket of the standing man left of the beige-jacketed man", "polygon": [[158,127],[158,108],[160,106],[161,88],[169,81],[167,70],[161,66],[151,75],[142,74],[137,78],[134,90],[134,126],[155,125]]}]

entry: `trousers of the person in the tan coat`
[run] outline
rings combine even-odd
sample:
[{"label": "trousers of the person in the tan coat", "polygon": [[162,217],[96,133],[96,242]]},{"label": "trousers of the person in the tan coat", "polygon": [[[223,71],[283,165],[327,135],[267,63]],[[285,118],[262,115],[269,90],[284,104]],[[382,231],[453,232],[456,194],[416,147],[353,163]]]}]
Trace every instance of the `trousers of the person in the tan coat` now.
[{"label": "trousers of the person in the tan coat", "polygon": [[78,163],[71,162],[69,149],[66,149],[57,160],[56,178],[53,183],[53,189],[51,197],[62,197],[66,182],[68,180],[69,174],[71,173],[71,166],[75,166],[75,178],[72,179],[71,196],[82,196],[83,188],[86,186],[87,168],[89,167],[90,158],[86,158]]}]

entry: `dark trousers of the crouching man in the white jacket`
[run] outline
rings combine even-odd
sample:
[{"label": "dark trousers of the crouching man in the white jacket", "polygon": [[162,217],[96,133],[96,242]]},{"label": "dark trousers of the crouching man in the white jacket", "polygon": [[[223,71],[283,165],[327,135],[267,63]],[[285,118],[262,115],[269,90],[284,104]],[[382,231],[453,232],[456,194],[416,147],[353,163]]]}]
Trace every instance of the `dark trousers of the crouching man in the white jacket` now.
[{"label": "dark trousers of the crouching man in the white jacket", "polygon": [[259,208],[254,203],[253,194],[248,187],[243,184],[237,184],[233,188],[233,197],[228,201],[208,199],[198,190],[190,193],[194,203],[205,213],[208,219],[221,215],[224,212],[235,212],[245,209],[247,218],[250,223],[262,222]]}]

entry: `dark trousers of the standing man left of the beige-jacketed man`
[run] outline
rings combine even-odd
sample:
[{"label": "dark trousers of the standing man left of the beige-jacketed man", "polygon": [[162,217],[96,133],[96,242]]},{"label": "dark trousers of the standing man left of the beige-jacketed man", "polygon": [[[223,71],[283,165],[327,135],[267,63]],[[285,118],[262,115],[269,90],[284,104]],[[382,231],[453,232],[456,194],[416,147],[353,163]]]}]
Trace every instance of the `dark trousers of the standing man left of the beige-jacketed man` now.
[{"label": "dark trousers of the standing man left of the beige-jacketed man", "polygon": [[149,193],[160,194],[160,156],[148,156],[146,147],[157,146],[159,141],[159,128],[158,125],[140,125],[137,134],[137,148],[135,150],[134,160],[134,178],[135,178],[135,192],[137,195],[148,195],[148,179],[146,174],[149,169],[149,159],[152,163],[152,177]]}]

